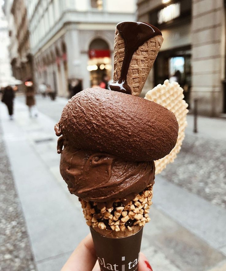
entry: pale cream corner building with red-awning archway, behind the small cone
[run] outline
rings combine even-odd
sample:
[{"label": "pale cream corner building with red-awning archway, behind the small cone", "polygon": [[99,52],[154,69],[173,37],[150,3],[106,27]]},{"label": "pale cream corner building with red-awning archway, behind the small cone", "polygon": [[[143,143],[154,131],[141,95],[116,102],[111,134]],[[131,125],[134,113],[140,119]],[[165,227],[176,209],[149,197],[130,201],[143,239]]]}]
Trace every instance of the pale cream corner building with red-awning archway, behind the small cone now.
[{"label": "pale cream corner building with red-awning archway, behind the small cone", "polygon": [[115,26],[135,19],[135,0],[26,0],[35,80],[68,96],[68,84],[83,88],[113,73]]}]

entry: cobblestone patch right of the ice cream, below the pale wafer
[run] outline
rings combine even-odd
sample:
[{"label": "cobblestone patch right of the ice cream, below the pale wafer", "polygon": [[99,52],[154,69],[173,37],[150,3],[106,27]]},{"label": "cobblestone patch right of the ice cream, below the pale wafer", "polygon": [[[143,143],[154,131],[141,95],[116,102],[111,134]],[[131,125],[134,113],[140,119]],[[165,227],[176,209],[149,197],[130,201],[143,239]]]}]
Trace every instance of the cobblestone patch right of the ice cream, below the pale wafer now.
[{"label": "cobblestone patch right of the ice cream, below the pale wafer", "polygon": [[177,159],[161,175],[226,208],[225,153],[226,141],[186,135]]}]

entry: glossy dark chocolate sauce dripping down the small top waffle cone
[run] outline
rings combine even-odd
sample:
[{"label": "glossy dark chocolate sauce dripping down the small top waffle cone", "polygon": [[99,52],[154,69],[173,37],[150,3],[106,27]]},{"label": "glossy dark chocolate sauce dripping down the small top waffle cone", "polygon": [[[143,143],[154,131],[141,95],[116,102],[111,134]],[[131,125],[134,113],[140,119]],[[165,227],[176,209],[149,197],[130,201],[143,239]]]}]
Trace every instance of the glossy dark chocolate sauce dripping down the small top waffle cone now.
[{"label": "glossy dark chocolate sauce dripping down the small top waffle cone", "polygon": [[124,39],[125,56],[120,78],[117,82],[111,83],[110,88],[113,91],[132,94],[129,85],[127,84],[127,73],[132,56],[145,41],[148,41],[151,37],[162,35],[162,33],[157,27],[144,22],[121,22],[117,24],[117,29]]}]

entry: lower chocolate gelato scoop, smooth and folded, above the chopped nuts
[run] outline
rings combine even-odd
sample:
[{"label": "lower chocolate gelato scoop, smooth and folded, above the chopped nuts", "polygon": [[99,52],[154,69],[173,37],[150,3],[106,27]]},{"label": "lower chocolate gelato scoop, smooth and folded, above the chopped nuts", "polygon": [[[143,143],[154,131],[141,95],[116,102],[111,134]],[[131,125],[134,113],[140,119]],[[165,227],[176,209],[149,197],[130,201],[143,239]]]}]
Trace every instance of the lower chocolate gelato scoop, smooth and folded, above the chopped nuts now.
[{"label": "lower chocolate gelato scoop, smooth and folded, above the chopped nuts", "polygon": [[148,185],[154,184],[154,162],[125,161],[115,155],[74,149],[64,140],[60,173],[71,194],[96,202],[115,199],[127,204]]}]

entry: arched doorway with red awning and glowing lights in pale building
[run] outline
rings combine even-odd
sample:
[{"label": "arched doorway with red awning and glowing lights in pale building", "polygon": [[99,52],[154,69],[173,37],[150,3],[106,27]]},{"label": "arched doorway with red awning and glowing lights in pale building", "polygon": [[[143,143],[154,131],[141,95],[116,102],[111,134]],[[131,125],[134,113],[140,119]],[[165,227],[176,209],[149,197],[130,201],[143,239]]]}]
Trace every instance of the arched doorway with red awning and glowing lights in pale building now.
[{"label": "arched doorway with red awning and glowing lights in pale building", "polygon": [[101,38],[94,39],[89,45],[88,71],[90,72],[90,85],[97,86],[107,75],[111,79],[111,53],[106,41]]}]

